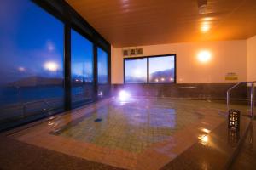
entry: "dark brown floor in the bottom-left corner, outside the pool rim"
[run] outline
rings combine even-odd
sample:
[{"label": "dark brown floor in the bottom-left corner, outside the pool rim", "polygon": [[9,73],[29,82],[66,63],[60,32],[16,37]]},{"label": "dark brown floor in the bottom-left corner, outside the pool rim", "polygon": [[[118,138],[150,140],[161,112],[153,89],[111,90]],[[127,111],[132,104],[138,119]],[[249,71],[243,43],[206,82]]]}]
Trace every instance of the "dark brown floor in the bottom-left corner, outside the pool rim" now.
[{"label": "dark brown floor in the bottom-left corner, outside the pool rim", "polygon": [[94,161],[69,156],[55,150],[47,150],[32,144],[26,144],[3,135],[0,135],[0,169],[123,170],[119,167],[111,167]]}]

